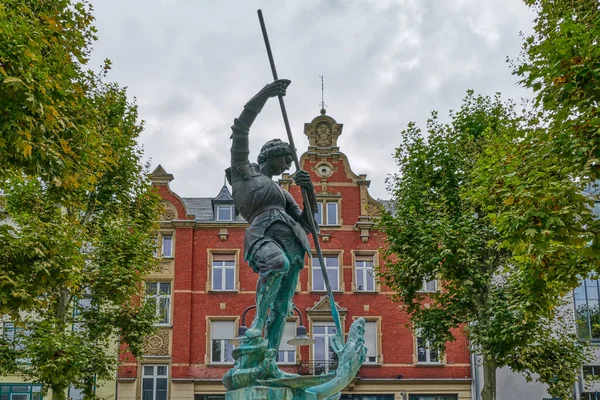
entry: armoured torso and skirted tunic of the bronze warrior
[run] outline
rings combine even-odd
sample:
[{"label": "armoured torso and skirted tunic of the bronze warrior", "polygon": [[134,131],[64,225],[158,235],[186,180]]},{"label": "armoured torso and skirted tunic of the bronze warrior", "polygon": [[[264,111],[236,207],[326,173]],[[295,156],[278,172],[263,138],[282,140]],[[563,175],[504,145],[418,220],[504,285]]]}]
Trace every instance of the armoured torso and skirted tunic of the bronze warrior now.
[{"label": "armoured torso and skirted tunic of the bronze warrior", "polygon": [[305,252],[310,254],[305,214],[292,195],[249,162],[248,128],[243,122],[236,119],[231,128],[231,168],[227,174],[236,207],[250,223],[244,238],[244,258],[258,272],[259,267],[252,262],[254,249],[274,241],[302,268]]}]

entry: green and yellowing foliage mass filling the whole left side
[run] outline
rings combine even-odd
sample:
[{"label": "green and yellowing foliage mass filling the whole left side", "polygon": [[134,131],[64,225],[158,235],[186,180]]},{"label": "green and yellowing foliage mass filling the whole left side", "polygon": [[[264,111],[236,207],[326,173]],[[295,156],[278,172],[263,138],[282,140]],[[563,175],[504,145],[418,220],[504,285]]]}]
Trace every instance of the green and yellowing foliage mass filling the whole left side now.
[{"label": "green and yellowing foliage mass filling the whole left side", "polygon": [[125,89],[84,70],[94,38],[84,2],[0,4],[0,375],[94,397],[117,339],[139,356],[155,308],[152,191]]}]

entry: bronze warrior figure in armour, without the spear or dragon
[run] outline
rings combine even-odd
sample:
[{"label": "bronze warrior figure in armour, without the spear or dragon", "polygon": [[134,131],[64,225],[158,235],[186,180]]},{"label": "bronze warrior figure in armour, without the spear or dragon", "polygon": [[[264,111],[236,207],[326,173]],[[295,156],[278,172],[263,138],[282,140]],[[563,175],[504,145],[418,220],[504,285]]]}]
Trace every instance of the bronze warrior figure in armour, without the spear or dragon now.
[{"label": "bronze warrior figure in armour, without the spear or dragon", "polygon": [[[273,181],[292,164],[289,144],[273,139],[265,143],[258,163],[248,159],[249,129],[271,97],[284,96],[289,80],[279,79],[266,85],[252,97],[231,127],[231,167],[226,170],[239,213],[250,223],[244,240],[244,257],[259,274],[256,285],[256,316],[246,332],[248,338],[262,336],[266,323],[268,348],[277,350],[291,311],[298,275],[304,267],[304,255],[310,254],[307,233],[309,218],[292,196]],[[317,209],[315,191],[306,171],[294,174]],[[269,311],[270,310],[270,311]],[[268,319],[267,319],[268,315]]]}]

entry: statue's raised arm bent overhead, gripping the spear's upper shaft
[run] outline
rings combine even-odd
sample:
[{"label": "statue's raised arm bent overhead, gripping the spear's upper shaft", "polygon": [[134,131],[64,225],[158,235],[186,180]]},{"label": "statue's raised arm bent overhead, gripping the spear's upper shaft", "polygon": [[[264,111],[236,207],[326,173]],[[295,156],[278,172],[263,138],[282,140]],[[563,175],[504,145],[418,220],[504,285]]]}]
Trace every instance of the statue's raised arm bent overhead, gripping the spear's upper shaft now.
[{"label": "statue's raised arm bent overhead, gripping the spear's upper shaft", "polygon": [[254,97],[244,105],[244,109],[238,118],[233,121],[231,127],[231,169],[232,173],[244,177],[249,173],[250,146],[248,143],[248,134],[250,127],[256,119],[258,113],[263,109],[267,100],[275,96],[285,96],[290,81],[287,79],[278,79],[264,88],[262,88]]}]

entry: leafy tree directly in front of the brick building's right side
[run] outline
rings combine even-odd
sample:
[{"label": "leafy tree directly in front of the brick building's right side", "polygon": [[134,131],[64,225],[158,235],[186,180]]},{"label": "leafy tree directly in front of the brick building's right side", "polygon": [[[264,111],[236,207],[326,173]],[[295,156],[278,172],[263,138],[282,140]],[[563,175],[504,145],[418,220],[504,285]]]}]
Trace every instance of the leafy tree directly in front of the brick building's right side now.
[{"label": "leafy tree directly in front of the brick building's right side", "polygon": [[[572,367],[586,359],[574,334],[553,329],[553,308],[532,313],[522,302],[519,283],[529,264],[503,245],[493,208],[473,195],[485,190],[477,185],[490,143],[521,127],[511,103],[473,92],[449,124],[434,112],[426,139],[409,124],[395,154],[399,172],[388,181],[394,212],[381,220],[388,259],[380,274],[433,346],[443,349],[455,329],[467,333],[483,357],[484,400],[495,399],[496,369],[505,365],[537,373],[553,394],[568,395],[576,380]],[[431,279],[443,289],[425,297],[420,290]]]}]

